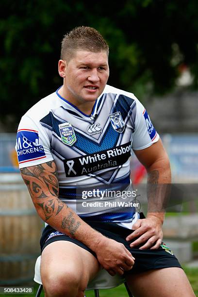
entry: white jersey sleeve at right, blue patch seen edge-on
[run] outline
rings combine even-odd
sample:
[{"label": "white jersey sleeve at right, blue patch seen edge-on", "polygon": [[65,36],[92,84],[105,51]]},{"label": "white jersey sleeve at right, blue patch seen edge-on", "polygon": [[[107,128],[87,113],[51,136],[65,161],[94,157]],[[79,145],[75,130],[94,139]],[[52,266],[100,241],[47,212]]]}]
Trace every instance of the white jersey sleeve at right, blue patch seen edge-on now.
[{"label": "white jersey sleeve at right, blue patch seen edge-on", "polygon": [[159,140],[150,117],[139,100],[136,101],[135,127],[132,137],[132,149],[139,150],[150,147]]}]

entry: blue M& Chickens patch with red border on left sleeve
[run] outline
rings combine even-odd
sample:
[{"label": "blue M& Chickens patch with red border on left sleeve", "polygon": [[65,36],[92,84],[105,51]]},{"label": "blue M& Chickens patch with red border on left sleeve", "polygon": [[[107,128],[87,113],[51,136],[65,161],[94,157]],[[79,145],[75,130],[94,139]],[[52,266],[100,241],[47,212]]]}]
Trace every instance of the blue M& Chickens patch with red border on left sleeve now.
[{"label": "blue M& Chickens patch with red border on left sleeve", "polygon": [[34,130],[20,129],[17,132],[16,152],[19,164],[46,158],[44,148],[39,144],[38,132]]}]

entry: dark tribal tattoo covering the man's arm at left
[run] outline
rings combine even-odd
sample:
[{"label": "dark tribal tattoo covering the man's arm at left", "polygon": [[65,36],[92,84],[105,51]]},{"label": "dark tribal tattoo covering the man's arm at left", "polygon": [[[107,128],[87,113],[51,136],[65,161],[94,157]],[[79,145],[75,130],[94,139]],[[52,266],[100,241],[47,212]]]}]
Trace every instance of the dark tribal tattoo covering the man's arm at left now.
[{"label": "dark tribal tattoo covering the man's arm at left", "polygon": [[[36,209],[43,210],[43,219],[48,221],[50,217],[54,217],[64,208],[68,209],[66,203],[58,198],[59,185],[56,165],[54,161],[44,164],[22,168],[21,175],[25,181],[33,203]],[[74,236],[81,225],[81,222],[76,221],[72,210],[61,218],[61,228],[67,229],[69,234]]]}]

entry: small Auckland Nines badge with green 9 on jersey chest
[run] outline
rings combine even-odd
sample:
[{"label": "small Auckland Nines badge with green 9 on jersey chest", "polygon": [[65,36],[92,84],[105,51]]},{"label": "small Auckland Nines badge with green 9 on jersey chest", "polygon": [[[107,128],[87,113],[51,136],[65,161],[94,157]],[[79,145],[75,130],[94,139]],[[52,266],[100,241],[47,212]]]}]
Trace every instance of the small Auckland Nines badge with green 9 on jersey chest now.
[{"label": "small Auckland Nines badge with green 9 on jersey chest", "polygon": [[62,142],[65,143],[67,146],[73,146],[73,144],[76,142],[76,135],[73,127],[71,126],[71,123],[64,123],[58,126]]}]

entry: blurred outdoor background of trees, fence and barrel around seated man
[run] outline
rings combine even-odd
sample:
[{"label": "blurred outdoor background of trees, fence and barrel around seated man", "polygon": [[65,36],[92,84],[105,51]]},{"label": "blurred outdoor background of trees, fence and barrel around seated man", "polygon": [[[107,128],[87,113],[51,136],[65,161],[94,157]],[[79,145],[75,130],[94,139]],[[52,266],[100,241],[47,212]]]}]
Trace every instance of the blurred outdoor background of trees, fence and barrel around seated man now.
[{"label": "blurred outdoor background of trees, fence and barrel around seated man", "polygon": [[[43,226],[19,175],[17,126],[62,84],[61,40],[81,25],[99,30],[110,46],[108,84],[134,93],[147,108],[167,149],[173,182],[198,183],[197,0],[1,1],[0,285],[33,279]],[[134,156],[132,179],[146,179]],[[197,212],[197,201],[191,201],[182,213],[167,214],[164,226],[165,242],[184,263],[196,293]]]}]

